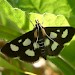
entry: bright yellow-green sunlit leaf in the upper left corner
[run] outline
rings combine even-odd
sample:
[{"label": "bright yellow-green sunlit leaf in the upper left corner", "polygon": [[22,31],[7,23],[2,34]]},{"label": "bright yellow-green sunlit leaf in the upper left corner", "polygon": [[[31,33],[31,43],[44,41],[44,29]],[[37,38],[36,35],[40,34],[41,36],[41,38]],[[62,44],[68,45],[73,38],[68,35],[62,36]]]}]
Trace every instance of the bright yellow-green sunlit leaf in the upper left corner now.
[{"label": "bright yellow-green sunlit leaf in the upper left corner", "polygon": [[6,0],[0,0],[0,13],[6,18],[15,22],[18,27],[24,24],[25,13],[17,8],[12,8],[12,6]]}]

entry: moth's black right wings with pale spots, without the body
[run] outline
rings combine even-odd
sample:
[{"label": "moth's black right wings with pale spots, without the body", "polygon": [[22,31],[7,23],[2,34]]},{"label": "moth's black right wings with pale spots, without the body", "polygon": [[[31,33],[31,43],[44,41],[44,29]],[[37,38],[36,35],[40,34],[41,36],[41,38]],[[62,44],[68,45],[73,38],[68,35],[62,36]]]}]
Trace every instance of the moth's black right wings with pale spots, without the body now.
[{"label": "moth's black right wings with pale spots, without the body", "polygon": [[46,27],[45,31],[50,38],[47,37],[49,45],[45,47],[50,56],[58,55],[64,43],[69,42],[75,34],[75,29],[72,27]]}]

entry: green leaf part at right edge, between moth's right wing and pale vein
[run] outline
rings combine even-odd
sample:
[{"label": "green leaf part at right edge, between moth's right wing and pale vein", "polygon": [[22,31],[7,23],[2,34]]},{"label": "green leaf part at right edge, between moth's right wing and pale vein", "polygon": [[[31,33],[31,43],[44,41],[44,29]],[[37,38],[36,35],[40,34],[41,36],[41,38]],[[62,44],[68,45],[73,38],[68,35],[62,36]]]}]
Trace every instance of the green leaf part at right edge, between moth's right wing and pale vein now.
[{"label": "green leaf part at right edge, between moth's right wing and pale vein", "polygon": [[64,59],[66,59],[72,66],[73,68],[75,69],[75,60],[74,60],[74,57],[75,57],[75,36],[74,36],[74,40],[71,41],[69,43],[69,45],[65,45],[63,51],[61,52],[61,56],[63,56]]}]

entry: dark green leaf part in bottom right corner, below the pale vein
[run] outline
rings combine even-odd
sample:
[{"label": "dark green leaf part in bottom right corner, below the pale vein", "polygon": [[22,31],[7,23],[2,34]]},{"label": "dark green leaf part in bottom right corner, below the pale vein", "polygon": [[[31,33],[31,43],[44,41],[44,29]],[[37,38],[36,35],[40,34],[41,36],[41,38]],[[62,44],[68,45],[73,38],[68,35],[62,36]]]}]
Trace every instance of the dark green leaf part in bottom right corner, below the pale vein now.
[{"label": "dark green leaf part in bottom right corner, below the pale vein", "polygon": [[48,57],[48,60],[50,60],[52,63],[54,63],[62,72],[64,75],[74,75],[75,74],[75,69],[72,67],[72,64],[69,64],[65,58],[61,57],[55,57],[55,58],[50,58]]}]

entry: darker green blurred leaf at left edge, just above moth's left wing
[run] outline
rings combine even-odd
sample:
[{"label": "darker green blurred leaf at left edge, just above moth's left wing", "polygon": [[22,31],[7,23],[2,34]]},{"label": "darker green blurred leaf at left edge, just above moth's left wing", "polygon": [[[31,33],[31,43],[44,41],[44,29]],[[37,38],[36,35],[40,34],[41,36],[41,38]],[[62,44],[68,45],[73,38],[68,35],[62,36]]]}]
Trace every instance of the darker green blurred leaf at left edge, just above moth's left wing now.
[{"label": "darker green blurred leaf at left edge, just above moth's left wing", "polygon": [[18,36],[22,35],[18,30],[14,29],[13,26],[3,26],[0,25],[0,38],[4,40],[12,40]]}]

